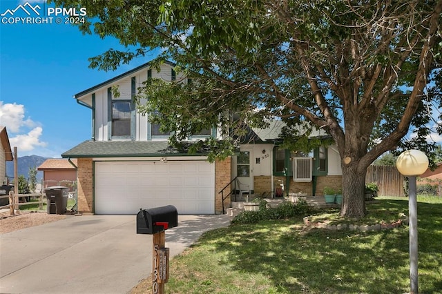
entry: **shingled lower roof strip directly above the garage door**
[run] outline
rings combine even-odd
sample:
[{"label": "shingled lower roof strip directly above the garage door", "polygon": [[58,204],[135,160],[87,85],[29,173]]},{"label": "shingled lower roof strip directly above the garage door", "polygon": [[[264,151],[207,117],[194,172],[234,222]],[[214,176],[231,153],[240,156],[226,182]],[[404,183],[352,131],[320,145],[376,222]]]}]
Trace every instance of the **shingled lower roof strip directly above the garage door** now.
[{"label": "shingled lower roof strip directly above the garage door", "polygon": [[[194,142],[186,142],[187,147]],[[178,150],[168,141],[84,141],[61,154],[63,158],[79,157],[154,157],[154,156],[204,156],[204,152],[189,154],[186,146]]]}]

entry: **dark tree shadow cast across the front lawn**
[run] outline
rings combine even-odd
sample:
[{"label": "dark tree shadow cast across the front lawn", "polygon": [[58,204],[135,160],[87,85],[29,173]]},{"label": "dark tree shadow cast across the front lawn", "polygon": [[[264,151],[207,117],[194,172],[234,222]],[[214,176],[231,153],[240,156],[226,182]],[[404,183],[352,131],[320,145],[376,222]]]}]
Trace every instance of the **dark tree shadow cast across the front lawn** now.
[{"label": "dark tree shadow cast across the front lawn", "polygon": [[[387,201],[392,208],[407,207],[407,200]],[[421,293],[435,293],[441,286],[442,228],[434,230],[441,211],[442,204],[419,203]],[[229,250],[233,268],[267,276],[274,286],[288,293],[409,291],[407,226],[378,232],[329,231],[305,229],[300,222],[298,219],[297,226],[293,220],[231,226],[228,242],[218,246]],[[437,271],[439,274],[434,273]]]}]

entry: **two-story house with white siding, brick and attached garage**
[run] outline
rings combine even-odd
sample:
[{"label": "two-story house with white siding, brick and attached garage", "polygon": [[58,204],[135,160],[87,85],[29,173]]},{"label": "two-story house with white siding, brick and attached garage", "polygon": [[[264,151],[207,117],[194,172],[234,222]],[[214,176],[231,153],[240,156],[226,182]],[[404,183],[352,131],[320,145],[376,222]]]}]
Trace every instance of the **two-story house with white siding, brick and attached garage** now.
[{"label": "two-story house with white siding, brick and attached garage", "polygon": [[[266,130],[251,130],[253,139],[240,146],[238,155],[224,161],[210,163],[203,152],[189,155],[171,148],[169,133],[162,133],[148,115],[138,113],[132,97],[148,78],[178,78],[173,66],[166,62],[157,71],[145,63],[74,96],[92,115],[91,139],[61,155],[77,159],[79,212],[135,214],[140,208],[173,204],[180,214],[222,213],[231,199],[225,199],[223,207],[221,191],[233,179],[247,185],[251,193],[272,197],[279,195],[281,185],[286,192],[310,195],[322,193],[329,184],[340,186],[336,149],[318,148],[304,158],[280,149],[278,122]],[[113,95],[114,88],[118,97]],[[209,136],[220,139],[218,129],[212,128],[186,141],[191,144]]]}]

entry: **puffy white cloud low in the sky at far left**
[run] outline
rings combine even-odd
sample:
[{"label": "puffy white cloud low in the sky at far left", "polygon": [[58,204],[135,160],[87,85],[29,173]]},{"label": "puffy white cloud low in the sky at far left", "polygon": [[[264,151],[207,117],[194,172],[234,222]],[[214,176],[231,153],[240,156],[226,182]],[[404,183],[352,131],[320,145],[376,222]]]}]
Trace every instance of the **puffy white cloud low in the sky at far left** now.
[{"label": "puffy white cloud low in the sky at far left", "polygon": [[30,117],[25,117],[25,107],[21,104],[3,104],[0,101],[0,125],[6,126],[11,147],[17,146],[19,151],[31,151],[37,146],[47,145],[40,140],[43,128]]}]

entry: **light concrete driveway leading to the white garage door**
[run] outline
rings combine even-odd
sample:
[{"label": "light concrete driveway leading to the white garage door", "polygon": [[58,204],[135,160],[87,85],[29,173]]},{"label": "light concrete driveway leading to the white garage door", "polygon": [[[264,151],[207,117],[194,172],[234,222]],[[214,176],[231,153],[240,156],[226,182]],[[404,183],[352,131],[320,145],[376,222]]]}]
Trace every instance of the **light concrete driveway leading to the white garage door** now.
[{"label": "light concrete driveway leading to the white garage door", "polygon": [[[171,257],[227,215],[180,215],[166,231]],[[0,235],[0,293],[127,293],[152,271],[152,236],[135,215],[68,215]]]}]

